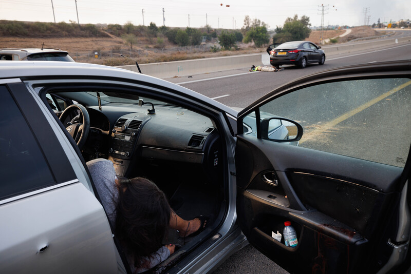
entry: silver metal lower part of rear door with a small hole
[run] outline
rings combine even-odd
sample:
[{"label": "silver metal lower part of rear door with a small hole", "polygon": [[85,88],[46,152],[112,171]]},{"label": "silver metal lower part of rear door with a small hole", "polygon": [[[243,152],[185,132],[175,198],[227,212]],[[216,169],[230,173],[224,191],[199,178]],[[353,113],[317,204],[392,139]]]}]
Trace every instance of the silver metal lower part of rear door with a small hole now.
[{"label": "silver metal lower part of rear door with a small hole", "polygon": [[77,182],[0,206],[2,273],[115,273],[104,210]]}]

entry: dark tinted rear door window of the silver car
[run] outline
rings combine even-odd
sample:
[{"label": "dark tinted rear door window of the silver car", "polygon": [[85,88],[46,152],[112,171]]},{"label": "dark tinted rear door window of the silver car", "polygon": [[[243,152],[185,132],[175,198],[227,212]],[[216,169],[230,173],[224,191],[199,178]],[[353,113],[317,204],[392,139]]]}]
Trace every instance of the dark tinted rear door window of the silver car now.
[{"label": "dark tinted rear door window of the silver car", "polygon": [[0,128],[0,200],[53,185],[38,141],[5,86],[0,86]]}]

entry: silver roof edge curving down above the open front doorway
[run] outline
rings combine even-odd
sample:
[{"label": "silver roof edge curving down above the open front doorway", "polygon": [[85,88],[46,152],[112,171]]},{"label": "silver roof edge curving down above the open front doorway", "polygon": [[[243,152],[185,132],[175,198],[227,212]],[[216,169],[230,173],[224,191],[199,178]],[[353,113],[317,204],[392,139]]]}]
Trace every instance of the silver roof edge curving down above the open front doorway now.
[{"label": "silver roof edge curving down above the open front doorway", "polygon": [[206,104],[213,105],[228,114],[237,117],[238,111],[221,104],[210,97],[204,96],[188,88],[158,79],[153,76],[140,74],[131,70],[109,67],[97,64],[75,62],[49,62],[49,61],[2,61],[0,62],[0,83],[2,79],[26,79],[27,77],[39,77],[44,79],[56,79],[56,77],[90,77],[92,79],[116,79],[143,81],[158,85],[166,89],[173,89],[183,94],[193,96]]}]

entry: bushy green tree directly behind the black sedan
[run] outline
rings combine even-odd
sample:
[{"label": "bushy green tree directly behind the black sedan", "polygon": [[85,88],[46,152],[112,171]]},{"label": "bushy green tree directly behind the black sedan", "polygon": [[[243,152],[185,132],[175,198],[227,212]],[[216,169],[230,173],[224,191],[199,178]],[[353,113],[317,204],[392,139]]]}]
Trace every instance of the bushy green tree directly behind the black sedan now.
[{"label": "bushy green tree directly behind the black sedan", "polygon": [[310,17],[303,15],[298,19],[298,15],[295,14],[293,18],[288,17],[284,22],[283,28],[277,27],[275,29],[276,34],[273,37],[273,43],[284,43],[293,40],[304,40],[310,36],[311,30]]}]

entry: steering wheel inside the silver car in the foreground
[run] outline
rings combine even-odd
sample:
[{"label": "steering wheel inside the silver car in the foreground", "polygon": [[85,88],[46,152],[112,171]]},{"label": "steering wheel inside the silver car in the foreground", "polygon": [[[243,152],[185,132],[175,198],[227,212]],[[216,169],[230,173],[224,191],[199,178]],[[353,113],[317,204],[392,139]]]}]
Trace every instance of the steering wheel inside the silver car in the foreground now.
[{"label": "steering wheel inside the silver car in the foreground", "polygon": [[76,109],[80,110],[79,123],[68,123],[66,129],[74,139],[74,142],[77,143],[79,148],[82,148],[86,143],[88,132],[90,131],[90,116],[88,115],[86,108],[79,104],[73,104],[63,111],[59,119],[62,123],[64,123],[64,121],[67,119],[67,116]]}]

